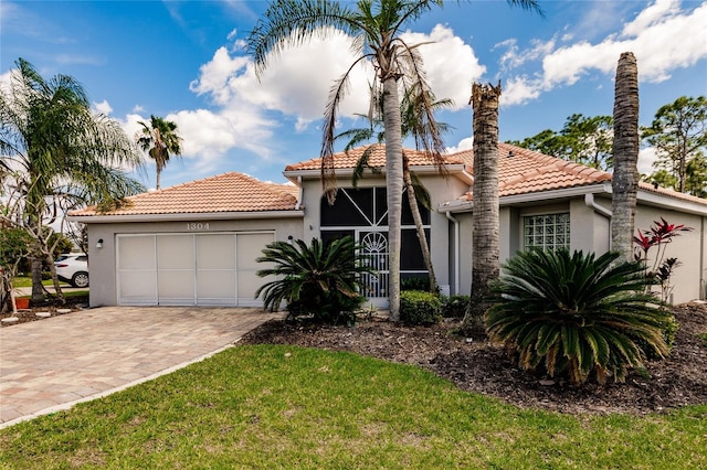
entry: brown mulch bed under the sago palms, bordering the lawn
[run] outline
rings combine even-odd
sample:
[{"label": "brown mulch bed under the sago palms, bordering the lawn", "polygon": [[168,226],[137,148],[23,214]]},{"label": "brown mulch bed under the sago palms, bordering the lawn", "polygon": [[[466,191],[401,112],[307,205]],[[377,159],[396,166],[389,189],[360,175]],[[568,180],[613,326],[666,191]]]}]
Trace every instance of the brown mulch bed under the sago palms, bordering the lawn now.
[{"label": "brown mulch bed under the sago palms, bordering the lawn", "polygon": [[458,320],[434,327],[405,327],[373,319],[347,327],[315,327],[270,321],[242,343],[297,344],[350,351],[387,361],[415,364],[469,392],[498,397],[523,408],[570,414],[664,412],[707,403],[707,306],[675,308],[680,324],[671,356],[632,372],[625,383],[588,383],[579,387],[548,381],[514,366],[503,348],[486,339],[454,334]]}]

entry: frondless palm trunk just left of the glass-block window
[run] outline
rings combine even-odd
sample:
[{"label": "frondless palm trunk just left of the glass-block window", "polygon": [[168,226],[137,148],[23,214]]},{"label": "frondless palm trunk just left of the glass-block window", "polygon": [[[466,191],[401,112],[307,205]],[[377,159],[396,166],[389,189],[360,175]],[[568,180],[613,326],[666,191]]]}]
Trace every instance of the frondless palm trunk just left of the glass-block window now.
[{"label": "frondless palm trunk just left of the glass-block window", "polygon": [[498,97],[500,83],[474,84],[474,218],[472,228],[472,300],[464,317],[469,328],[483,316],[488,282],[500,271],[498,222]]}]

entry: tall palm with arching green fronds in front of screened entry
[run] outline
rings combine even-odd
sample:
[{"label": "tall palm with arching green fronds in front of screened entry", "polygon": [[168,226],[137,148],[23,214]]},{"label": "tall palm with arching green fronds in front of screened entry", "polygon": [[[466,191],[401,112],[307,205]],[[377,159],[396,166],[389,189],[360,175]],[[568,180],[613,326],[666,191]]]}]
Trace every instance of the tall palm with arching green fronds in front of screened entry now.
[{"label": "tall palm with arching green fronds in front of screened entry", "polygon": [[[323,184],[333,202],[335,188],[334,140],[339,103],[347,89],[350,72],[362,62],[370,62],[376,71],[373,88],[382,90],[383,125],[386,128],[386,179],[388,189],[388,238],[390,318],[400,317],[400,245],[403,188],[402,130],[399,88],[411,86],[429,89],[422,70],[419,44],[408,44],[400,36],[404,26],[419,19],[442,0],[359,0],[356,3],[333,0],[275,0],[258,20],[247,39],[247,50],[255,62],[258,76],[273,54],[287,45],[298,45],[313,38],[333,34],[339,29],[354,36],[359,57],[335,82],[325,109],[321,142]],[[537,9],[535,1],[509,1]],[[404,93],[404,92],[403,92]],[[378,95],[378,92],[373,94]],[[425,110],[426,113],[428,110]],[[430,116],[432,110],[429,110]],[[431,120],[434,120],[433,118]],[[425,151],[436,156],[444,143],[439,136],[423,139]]]}]

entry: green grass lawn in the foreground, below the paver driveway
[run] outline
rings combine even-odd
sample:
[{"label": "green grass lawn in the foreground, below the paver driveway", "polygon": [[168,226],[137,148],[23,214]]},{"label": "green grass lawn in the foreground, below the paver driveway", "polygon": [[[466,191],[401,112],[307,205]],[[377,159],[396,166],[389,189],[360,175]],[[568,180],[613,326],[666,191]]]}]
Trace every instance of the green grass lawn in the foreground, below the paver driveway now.
[{"label": "green grass lawn in the foreground, below the paver driveway", "polygon": [[707,405],[521,410],[410,365],[243,345],[0,430],[0,467],[696,469],[705,436]]}]

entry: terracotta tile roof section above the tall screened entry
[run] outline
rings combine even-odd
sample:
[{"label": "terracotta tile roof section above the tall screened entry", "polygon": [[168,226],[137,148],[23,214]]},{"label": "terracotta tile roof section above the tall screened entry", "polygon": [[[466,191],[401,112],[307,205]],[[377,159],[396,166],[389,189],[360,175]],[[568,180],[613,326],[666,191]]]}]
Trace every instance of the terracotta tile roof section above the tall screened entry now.
[{"label": "terracotta tile roof section above the tall screened entry", "polygon": [[[338,152],[334,154],[334,168],[335,170],[345,170],[356,168],[356,163],[359,161],[366,149],[372,148],[368,164],[373,168],[386,167],[386,146],[382,143],[373,143],[370,146],[361,146],[349,150],[349,152]],[[404,149],[408,156],[408,161],[411,167],[429,167],[434,165],[433,158],[425,152],[418,150]],[[442,158],[449,163],[463,163],[457,157],[442,156]],[[321,159],[316,158],[312,160],[300,161],[298,163],[288,164],[285,167],[285,171],[300,171],[300,170],[320,170]]]}]

